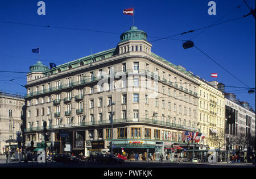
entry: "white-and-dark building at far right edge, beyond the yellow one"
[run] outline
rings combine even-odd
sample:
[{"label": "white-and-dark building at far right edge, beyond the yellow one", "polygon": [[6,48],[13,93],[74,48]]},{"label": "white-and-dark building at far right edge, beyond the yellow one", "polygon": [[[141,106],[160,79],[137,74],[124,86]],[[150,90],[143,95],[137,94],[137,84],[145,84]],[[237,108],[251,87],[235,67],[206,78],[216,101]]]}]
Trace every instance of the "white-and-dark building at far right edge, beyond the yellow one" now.
[{"label": "white-and-dark building at far right edge, beyond the yellow one", "polygon": [[[241,156],[255,157],[255,111],[233,93],[225,93],[225,85],[218,84],[225,94],[225,134],[227,149]],[[249,159],[248,158],[248,159]]]}]

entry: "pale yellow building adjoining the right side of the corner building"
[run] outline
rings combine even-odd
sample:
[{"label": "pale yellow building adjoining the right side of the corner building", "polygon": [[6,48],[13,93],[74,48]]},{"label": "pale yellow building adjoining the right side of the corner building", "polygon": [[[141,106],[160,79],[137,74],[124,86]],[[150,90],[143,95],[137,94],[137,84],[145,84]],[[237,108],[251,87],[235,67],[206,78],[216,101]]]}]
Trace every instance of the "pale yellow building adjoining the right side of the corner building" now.
[{"label": "pale yellow building adjoining the right side of the corner building", "polygon": [[[208,82],[196,76],[199,82],[199,127],[200,131],[205,134],[205,139],[201,144],[208,145],[210,149],[221,148],[225,151],[224,143],[224,130],[225,130],[225,98],[214,81]],[[215,137],[223,138],[222,143],[218,143]]]}]

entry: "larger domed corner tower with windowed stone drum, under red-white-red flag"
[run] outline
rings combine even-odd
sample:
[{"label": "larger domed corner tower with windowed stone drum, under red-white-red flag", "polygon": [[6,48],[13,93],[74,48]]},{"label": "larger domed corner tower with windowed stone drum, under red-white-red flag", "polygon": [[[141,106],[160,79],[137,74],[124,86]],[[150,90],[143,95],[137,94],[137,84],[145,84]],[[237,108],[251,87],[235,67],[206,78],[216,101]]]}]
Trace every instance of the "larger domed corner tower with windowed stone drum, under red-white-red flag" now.
[{"label": "larger domed corner tower with windowed stone drum, under red-white-red flag", "polygon": [[152,45],[147,41],[147,33],[138,30],[137,27],[130,27],[129,31],[123,32],[118,43],[119,54],[127,52],[144,52],[151,54]]}]

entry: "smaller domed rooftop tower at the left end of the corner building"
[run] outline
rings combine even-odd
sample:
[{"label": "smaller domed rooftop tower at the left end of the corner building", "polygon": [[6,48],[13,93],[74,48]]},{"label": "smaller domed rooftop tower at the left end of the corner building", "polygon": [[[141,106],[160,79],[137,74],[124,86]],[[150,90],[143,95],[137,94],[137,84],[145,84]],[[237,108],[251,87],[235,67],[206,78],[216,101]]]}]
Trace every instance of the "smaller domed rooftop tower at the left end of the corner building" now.
[{"label": "smaller domed rooftop tower at the left end of the corner building", "polygon": [[37,61],[36,64],[30,66],[30,72],[27,73],[27,82],[43,77],[43,72],[48,70],[48,66]]}]

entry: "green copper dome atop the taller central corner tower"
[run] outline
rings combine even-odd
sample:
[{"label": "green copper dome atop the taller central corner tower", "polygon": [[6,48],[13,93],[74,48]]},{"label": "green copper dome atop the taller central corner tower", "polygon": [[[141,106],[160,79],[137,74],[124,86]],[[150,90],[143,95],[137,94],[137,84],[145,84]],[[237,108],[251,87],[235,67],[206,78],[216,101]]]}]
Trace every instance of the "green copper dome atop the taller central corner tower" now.
[{"label": "green copper dome atop the taller central corner tower", "polygon": [[129,31],[123,32],[120,36],[121,41],[126,40],[147,40],[147,33],[141,30],[138,30],[137,27],[130,27]]}]

